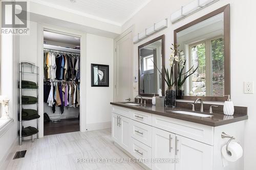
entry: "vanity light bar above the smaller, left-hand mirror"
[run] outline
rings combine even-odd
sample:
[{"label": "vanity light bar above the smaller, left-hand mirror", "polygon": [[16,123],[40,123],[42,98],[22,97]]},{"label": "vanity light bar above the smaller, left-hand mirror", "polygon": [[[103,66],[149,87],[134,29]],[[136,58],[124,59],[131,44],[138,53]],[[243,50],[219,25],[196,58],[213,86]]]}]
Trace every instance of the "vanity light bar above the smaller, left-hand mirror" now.
[{"label": "vanity light bar above the smaller, left-hand mirror", "polygon": [[168,18],[165,18],[157,23],[154,23],[154,25],[150,28],[145,29],[145,31],[138,33],[135,37],[133,37],[133,43],[137,43],[146,37],[161,31],[164,28],[168,27]]}]

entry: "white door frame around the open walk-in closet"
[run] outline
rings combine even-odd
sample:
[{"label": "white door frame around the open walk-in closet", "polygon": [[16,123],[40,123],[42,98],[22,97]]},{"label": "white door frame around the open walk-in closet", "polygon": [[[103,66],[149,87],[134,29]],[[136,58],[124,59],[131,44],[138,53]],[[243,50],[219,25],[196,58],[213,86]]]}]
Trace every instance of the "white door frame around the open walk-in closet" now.
[{"label": "white door frame around the open walk-in closet", "polygon": [[[85,132],[86,131],[86,104],[87,104],[87,98],[86,98],[86,89],[87,89],[87,54],[86,54],[86,33],[75,31],[75,30],[69,30],[65,28],[60,28],[56,26],[51,25],[45,25],[42,23],[38,23],[37,25],[37,63],[39,67],[39,106],[38,106],[38,114],[40,117],[44,117],[44,30],[51,31],[54,33],[60,33],[70,36],[76,36],[80,37],[80,105],[79,107],[79,125],[80,125],[80,131]],[[82,97],[83,96],[83,97]],[[44,137],[44,119],[39,119],[39,137]]]}]

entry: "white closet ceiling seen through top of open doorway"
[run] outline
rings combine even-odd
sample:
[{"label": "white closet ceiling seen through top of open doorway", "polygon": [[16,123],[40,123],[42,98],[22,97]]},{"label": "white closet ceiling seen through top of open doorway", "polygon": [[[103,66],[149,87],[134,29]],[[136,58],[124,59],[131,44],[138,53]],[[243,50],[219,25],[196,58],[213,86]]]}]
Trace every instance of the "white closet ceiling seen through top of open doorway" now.
[{"label": "white closet ceiling seen through top of open doorway", "polygon": [[80,38],[44,31],[44,40],[80,45]]}]

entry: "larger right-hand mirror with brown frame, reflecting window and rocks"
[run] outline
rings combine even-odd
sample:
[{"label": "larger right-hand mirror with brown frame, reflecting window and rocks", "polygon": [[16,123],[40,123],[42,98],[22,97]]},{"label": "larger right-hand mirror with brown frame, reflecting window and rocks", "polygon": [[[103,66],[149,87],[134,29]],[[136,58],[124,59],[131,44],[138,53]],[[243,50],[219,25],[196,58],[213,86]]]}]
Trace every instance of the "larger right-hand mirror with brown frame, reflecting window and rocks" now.
[{"label": "larger right-hand mirror with brown frame, reflecting window and rocks", "polygon": [[177,98],[225,101],[230,94],[229,5],[174,31],[174,43],[184,52],[184,71],[195,71],[178,87]]}]

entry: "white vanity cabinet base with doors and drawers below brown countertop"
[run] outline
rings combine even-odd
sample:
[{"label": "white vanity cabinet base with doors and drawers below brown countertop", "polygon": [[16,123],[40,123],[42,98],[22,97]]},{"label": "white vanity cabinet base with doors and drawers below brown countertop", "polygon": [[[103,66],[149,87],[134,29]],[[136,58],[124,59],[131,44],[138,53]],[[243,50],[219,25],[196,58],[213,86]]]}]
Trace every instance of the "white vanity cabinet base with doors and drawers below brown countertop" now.
[{"label": "white vanity cabinet base with doors and drawers below brown countertop", "polygon": [[[243,141],[244,122],[211,127],[119,106],[112,110],[112,138],[130,155],[157,170],[240,170],[243,159],[222,166],[226,132]],[[167,162],[167,163],[166,163]]]}]

